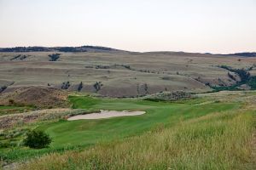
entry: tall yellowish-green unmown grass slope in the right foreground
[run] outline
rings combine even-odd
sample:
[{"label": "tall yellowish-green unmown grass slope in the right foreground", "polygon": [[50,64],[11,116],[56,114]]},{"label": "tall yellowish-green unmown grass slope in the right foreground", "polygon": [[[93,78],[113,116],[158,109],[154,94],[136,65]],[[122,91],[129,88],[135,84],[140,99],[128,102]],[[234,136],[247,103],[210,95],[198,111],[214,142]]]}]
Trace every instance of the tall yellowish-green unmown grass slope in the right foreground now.
[{"label": "tall yellowish-green unmown grass slope in the right foreground", "polygon": [[20,169],[253,169],[253,111],[226,111],[159,126],[82,152],[50,154]]}]

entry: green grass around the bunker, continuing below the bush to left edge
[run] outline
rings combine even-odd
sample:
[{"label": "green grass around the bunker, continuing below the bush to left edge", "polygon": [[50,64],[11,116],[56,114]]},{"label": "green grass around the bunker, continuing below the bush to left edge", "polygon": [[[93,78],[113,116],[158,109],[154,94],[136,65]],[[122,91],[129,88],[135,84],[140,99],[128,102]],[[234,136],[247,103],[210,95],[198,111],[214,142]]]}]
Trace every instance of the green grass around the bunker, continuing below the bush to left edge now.
[{"label": "green grass around the bunker, continuing below the bush to left edge", "polygon": [[38,129],[49,133],[53,139],[49,148],[32,150],[25,147],[1,150],[3,160],[19,161],[45,153],[81,150],[98,143],[126,139],[154,131],[159,126],[172,127],[191,118],[214,112],[236,110],[238,103],[209,103],[197,105],[202,99],[179,102],[152,102],[140,99],[100,99],[72,96],[73,108],[87,110],[146,111],[142,116],[114,117],[101,120],[79,120],[42,123]]}]

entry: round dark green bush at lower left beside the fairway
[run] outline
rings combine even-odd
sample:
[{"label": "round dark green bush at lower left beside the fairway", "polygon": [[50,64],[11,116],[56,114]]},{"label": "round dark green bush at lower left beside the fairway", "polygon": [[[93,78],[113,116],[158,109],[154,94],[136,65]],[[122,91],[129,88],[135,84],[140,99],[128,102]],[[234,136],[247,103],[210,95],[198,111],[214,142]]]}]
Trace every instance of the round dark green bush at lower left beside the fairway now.
[{"label": "round dark green bush at lower left beside the fairway", "polygon": [[46,148],[50,143],[49,135],[38,130],[29,131],[26,133],[26,139],[24,139],[24,145],[34,149]]}]

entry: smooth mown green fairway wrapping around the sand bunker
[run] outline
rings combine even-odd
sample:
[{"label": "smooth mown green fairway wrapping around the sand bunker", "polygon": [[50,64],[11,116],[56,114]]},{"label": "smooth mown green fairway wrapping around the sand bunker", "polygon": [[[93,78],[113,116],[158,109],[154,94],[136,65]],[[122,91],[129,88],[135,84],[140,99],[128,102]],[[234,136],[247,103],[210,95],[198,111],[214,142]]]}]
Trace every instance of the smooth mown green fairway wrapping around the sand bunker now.
[{"label": "smooth mown green fairway wrapping around the sand bunker", "polygon": [[[196,116],[203,116],[215,111],[227,111],[238,108],[235,104],[191,105],[163,102],[148,102],[136,99],[91,99],[88,97],[71,97],[74,108],[103,109],[114,111],[146,111],[142,116],[114,117],[101,120],[79,120],[73,122],[58,122],[45,129],[54,142],[52,147],[67,145],[90,145],[101,141],[122,139],[137,135],[158,126],[166,126]],[[86,105],[89,103],[89,105]]]}]

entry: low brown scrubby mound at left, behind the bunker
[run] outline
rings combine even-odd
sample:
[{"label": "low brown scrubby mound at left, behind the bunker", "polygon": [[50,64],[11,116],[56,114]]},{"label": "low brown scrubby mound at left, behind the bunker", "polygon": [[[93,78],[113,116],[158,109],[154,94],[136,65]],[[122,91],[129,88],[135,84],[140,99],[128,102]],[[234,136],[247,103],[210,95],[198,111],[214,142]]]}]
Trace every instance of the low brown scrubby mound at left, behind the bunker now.
[{"label": "low brown scrubby mound at left, behind the bunker", "polygon": [[18,88],[0,96],[0,105],[34,105],[39,108],[67,107],[68,92],[56,88]]}]

